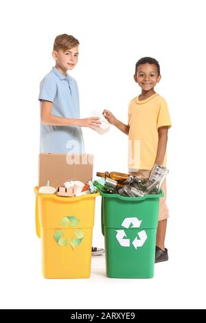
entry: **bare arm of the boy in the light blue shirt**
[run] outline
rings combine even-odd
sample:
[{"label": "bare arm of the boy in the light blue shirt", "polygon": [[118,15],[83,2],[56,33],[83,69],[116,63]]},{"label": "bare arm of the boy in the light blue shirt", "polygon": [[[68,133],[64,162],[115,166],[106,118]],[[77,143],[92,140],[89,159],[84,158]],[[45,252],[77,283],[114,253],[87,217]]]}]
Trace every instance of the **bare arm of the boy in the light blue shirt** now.
[{"label": "bare arm of the boy in the light blue shirt", "polygon": [[41,123],[52,124],[53,126],[87,126],[94,129],[96,126],[100,126],[101,122],[99,118],[63,118],[57,115],[52,115],[52,102],[42,100],[41,104]]}]

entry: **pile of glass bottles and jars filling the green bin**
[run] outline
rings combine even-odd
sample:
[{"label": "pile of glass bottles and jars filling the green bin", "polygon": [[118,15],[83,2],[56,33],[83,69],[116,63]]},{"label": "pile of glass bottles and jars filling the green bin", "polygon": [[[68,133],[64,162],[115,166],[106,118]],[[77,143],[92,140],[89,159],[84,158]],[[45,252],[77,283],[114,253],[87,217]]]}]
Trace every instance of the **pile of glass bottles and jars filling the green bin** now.
[{"label": "pile of glass bottles and jars filling the green bin", "polygon": [[132,176],[121,172],[97,172],[100,179],[90,182],[91,193],[100,190],[106,194],[119,194],[123,197],[144,197],[146,194],[159,194],[161,185],[169,170],[157,165],[152,168],[149,178]]}]

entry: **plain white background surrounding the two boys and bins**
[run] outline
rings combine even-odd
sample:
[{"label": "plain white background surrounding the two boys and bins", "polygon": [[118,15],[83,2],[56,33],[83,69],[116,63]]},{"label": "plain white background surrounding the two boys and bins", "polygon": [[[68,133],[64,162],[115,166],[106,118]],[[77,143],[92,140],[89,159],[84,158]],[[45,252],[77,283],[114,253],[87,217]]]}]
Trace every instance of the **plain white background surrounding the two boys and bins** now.
[{"label": "plain white background surrounding the two boys and bins", "polygon": [[[205,308],[205,1],[4,1],[1,3],[1,308]],[[104,257],[91,278],[45,280],[35,235],[38,175],[39,82],[54,65],[58,34],[80,41],[80,110],[111,109],[127,122],[139,94],[136,61],[159,60],[156,91],[172,118],[168,140],[166,247],[170,261],[149,280],[105,277]],[[103,136],[83,129],[98,171],[127,172],[127,137],[114,127]],[[93,245],[101,247],[100,198]]]}]

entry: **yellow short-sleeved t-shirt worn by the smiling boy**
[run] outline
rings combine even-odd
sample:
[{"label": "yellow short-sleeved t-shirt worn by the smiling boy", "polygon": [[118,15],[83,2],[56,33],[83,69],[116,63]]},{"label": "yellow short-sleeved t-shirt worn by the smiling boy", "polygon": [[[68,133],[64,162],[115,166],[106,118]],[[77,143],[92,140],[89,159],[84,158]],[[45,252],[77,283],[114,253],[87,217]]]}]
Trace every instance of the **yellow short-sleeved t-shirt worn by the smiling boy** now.
[{"label": "yellow short-sleeved t-shirt worn by the smiling boy", "polygon": [[[172,126],[167,102],[155,93],[146,100],[133,98],[128,108],[128,168],[151,170],[155,164],[158,145],[158,128]],[[166,154],[163,166],[166,164]]]}]

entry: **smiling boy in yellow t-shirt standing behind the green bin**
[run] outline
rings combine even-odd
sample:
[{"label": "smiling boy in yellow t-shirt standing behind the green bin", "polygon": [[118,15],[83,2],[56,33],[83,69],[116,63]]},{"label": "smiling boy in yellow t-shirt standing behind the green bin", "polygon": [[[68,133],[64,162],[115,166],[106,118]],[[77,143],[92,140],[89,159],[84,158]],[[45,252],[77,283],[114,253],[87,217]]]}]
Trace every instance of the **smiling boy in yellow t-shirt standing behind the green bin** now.
[{"label": "smiling boy in yellow t-shirt standing behind the green bin", "polygon": [[[149,177],[155,164],[165,166],[168,129],[171,126],[168,105],[155,93],[155,85],[160,81],[160,67],[155,58],[144,57],[135,67],[135,82],[141,87],[141,94],[130,101],[128,124],[117,120],[113,113],[104,110],[105,118],[128,135],[128,168],[131,175]],[[159,200],[159,223],[155,250],[155,263],[168,260],[165,248],[165,232],[168,219],[166,205],[166,182],[162,187],[164,197]]]}]

